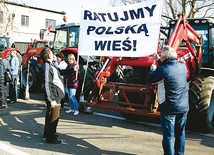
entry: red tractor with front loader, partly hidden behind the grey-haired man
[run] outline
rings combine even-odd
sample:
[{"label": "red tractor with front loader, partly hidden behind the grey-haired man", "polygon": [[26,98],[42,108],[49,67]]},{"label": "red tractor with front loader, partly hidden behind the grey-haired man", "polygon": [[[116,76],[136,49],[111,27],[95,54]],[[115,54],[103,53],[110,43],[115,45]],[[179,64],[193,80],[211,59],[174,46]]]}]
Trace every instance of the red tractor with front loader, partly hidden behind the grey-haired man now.
[{"label": "red tractor with front loader, partly hidden behind the grey-haired man", "polygon": [[[186,61],[189,81],[188,127],[209,132],[214,123],[214,24],[209,19],[186,19],[183,14],[169,23],[166,45],[176,49],[178,59]],[[86,104],[89,107],[119,111],[128,119],[159,117],[157,85],[146,81],[153,56],[108,58],[95,74],[94,88]],[[110,77],[118,66],[129,66],[121,82]],[[119,101],[115,100],[118,94]]]}]

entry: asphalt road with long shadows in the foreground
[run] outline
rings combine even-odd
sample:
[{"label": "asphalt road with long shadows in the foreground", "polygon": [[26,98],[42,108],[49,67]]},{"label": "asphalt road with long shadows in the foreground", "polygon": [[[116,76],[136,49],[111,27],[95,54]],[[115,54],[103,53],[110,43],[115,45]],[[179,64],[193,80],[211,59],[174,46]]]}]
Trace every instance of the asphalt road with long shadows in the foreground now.
[{"label": "asphalt road with long shadows in the foreground", "polygon": [[[62,144],[43,139],[45,106],[42,94],[18,99],[0,109],[1,155],[162,155],[158,120],[132,122],[117,112],[94,109],[93,114],[66,114],[61,109],[57,128]],[[214,131],[187,131],[186,155],[213,155]]]}]

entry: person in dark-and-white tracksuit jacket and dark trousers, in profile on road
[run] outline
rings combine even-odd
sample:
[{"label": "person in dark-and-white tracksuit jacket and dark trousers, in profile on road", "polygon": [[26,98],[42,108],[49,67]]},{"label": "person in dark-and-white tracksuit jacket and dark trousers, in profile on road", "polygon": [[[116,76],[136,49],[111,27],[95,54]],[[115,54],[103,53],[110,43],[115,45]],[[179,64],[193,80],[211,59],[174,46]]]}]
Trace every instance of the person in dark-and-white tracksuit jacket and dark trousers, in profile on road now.
[{"label": "person in dark-and-white tracksuit jacket and dark trousers, in profile on road", "polygon": [[60,101],[65,96],[64,85],[58,69],[51,65],[53,61],[51,49],[43,48],[40,56],[44,62],[44,97],[47,104],[44,138],[46,138],[47,143],[60,144],[62,140],[57,139],[55,133],[60,115]]}]

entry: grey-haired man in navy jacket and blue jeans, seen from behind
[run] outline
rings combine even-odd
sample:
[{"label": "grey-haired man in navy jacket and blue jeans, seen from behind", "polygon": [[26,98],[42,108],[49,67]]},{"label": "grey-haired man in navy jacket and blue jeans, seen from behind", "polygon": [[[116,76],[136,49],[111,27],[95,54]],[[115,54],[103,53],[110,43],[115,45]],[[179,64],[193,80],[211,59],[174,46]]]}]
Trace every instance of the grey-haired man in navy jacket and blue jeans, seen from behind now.
[{"label": "grey-haired man in navy jacket and blue jeans, seen from behind", "polygon": [[178,61],[176,51],[165,46],[161,51],[161,65],[152,64],[147,75],[150,83],[163,80],[165,99],[159,103],[164,155],[183,155],[185,127],[189,111],[187,69]]}]

